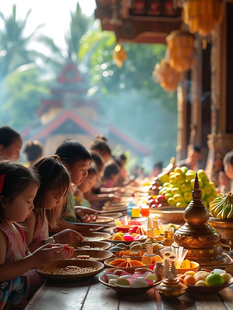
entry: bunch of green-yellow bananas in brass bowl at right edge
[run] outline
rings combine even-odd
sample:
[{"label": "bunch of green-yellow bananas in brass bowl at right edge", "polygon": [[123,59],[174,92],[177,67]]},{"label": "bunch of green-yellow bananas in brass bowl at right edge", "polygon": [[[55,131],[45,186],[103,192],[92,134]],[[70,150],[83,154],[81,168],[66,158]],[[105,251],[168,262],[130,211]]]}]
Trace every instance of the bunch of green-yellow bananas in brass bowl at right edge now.
[{"label": "bunch of green-yellow bananas in brass bowl at right edge", "polygon": [[233,193],[218,194],[210,203],[210,214],[217,218],[233,218]]}]

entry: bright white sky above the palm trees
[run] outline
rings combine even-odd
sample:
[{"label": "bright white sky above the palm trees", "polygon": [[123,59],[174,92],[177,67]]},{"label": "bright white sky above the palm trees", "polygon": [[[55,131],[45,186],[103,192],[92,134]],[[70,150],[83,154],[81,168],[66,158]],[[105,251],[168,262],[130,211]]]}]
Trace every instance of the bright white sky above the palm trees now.
[{"label": "bright white sky above the palm trees", "polygon": [[[46,24],[40,32],[52,37],[60,47],[64,45],[64,33],[68,29],[70,11],[79,2],[84,14],[90,16],[96,7],[95,0],[5,0],[0,3],[0,11],[8,16],[12,4],[16,4],[16,16],[24,18],[31,8],[25,35],[32,33],[40,24]],[[2,23],[0,23],[0,28]]]}]

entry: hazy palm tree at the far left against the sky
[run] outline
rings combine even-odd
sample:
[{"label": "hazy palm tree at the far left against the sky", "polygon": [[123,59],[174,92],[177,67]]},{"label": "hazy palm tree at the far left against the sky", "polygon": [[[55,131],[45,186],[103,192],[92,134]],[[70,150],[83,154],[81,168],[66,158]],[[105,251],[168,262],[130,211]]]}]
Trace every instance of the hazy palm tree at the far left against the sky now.
[{"label": "hazy palm tree at the far left against the sky", "polygon": [[12,12],[9,17],[5,17],[0,11],[0,19],[4,27],[0,29],[0,77],[4,78],[15,68],[35,61],[38,53],[28,50],[28,44],[34,38],[37,30],[43,25],[39,25],[32,34],[25,37],[24,30],[31,13],[27,12],[24,20],[16,19],[16,5],[12,6]]}]

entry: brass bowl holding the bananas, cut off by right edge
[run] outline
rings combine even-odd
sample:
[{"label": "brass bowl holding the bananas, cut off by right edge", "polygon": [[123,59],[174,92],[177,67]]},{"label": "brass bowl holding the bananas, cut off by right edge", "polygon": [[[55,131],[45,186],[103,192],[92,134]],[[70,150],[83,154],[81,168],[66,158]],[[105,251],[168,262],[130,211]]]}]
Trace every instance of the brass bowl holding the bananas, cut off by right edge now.
[{"label": "brass bowl holding the bananas, cut off by right edge", "polygon": [[230,248],[233,249],[233,218],[223,219],[223,218],[209,218],[210,225],[217,229],[221,234],[221,238],[229,240]]}]

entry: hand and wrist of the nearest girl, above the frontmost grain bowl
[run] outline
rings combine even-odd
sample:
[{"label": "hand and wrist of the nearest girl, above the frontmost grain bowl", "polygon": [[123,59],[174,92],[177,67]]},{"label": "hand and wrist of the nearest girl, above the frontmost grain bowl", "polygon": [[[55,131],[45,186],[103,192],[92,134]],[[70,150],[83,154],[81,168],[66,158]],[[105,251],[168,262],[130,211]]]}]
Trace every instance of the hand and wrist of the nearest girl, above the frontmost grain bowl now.
[{"label": "hand and wrist of the nearest girl, above the frontmost grain bowl", "polygon": [[46,244],[37,249],[33,254],[33,258],[38,266],[45,263],[70,258],[74,253],[73,247],[64,247],[60,244]]}]

